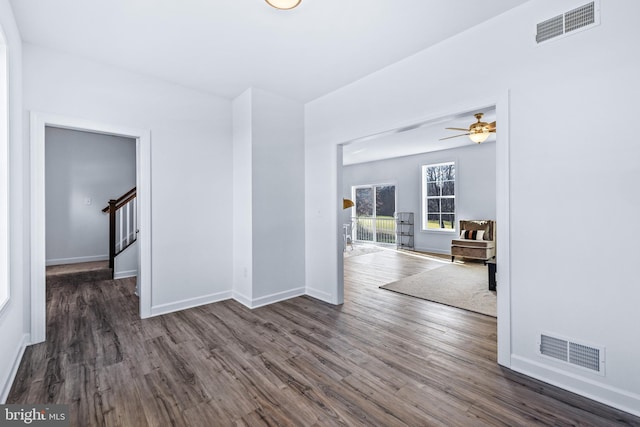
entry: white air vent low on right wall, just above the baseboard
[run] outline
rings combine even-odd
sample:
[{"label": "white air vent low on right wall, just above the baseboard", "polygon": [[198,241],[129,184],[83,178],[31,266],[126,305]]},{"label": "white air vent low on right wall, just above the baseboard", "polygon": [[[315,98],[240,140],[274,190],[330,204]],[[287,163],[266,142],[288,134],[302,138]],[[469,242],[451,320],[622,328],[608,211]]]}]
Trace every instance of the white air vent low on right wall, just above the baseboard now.
[{"label": "white air vent low on right wall, just above the baseboard", "polygon": [[540,334],[540,354],[604,375],[604,348]]}]

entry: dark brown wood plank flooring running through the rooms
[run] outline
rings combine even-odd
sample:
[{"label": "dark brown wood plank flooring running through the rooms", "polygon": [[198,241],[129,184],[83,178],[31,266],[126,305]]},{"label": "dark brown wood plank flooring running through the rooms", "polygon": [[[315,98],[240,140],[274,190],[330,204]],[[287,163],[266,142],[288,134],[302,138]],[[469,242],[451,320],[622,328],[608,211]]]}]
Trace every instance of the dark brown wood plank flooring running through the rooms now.
[{"label": "dark brown wood plank flooring running through the rooms", "polygon": [[54,283],[47,341],[7,403],[69,404],[74,426],[640,426],[500,368],[494,318],[377,287],[421,268],[367,254],[345,261],[342,306],[230,300],[146,320],[131,279]]}]

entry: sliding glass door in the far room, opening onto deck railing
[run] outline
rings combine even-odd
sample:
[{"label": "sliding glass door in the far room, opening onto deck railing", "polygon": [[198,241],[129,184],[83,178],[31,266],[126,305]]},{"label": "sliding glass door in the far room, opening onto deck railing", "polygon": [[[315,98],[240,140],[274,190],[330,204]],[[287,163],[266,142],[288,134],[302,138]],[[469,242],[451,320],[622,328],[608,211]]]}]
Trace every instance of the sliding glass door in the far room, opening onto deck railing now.
[{"label": "sliding glass door in the far room, opening onto deck railing", "polygon": [[359,185],[352,188],[355,201],[354,238],[356,240],[396,242],[395,185]]}]

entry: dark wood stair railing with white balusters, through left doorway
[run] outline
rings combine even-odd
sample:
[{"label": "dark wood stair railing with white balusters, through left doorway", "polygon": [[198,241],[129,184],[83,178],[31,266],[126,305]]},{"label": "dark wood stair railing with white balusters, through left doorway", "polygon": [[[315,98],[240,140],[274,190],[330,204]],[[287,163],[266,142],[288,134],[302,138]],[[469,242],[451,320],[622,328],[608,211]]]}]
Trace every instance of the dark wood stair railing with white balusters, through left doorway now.
[{"label": "dark wood stair railing with white balusters, through left doorway", "polygon": [[131,246],[138,237],[137,192],[135,188],[117,199],[109,200],[102,212],[109,214],[109,268],[116,256]]}]

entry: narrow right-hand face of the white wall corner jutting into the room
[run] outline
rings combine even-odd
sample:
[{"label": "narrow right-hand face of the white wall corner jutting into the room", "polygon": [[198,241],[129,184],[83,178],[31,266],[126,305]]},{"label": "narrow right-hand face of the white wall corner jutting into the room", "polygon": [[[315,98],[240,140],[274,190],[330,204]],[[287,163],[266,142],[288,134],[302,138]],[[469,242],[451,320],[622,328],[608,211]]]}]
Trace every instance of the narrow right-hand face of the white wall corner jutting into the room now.
[{"label": "narrow right-hand face of the white wall corner jutting into the room", "polygon": [[253,279],[258,303],[304,293],[304,107],[253,91]]}]

